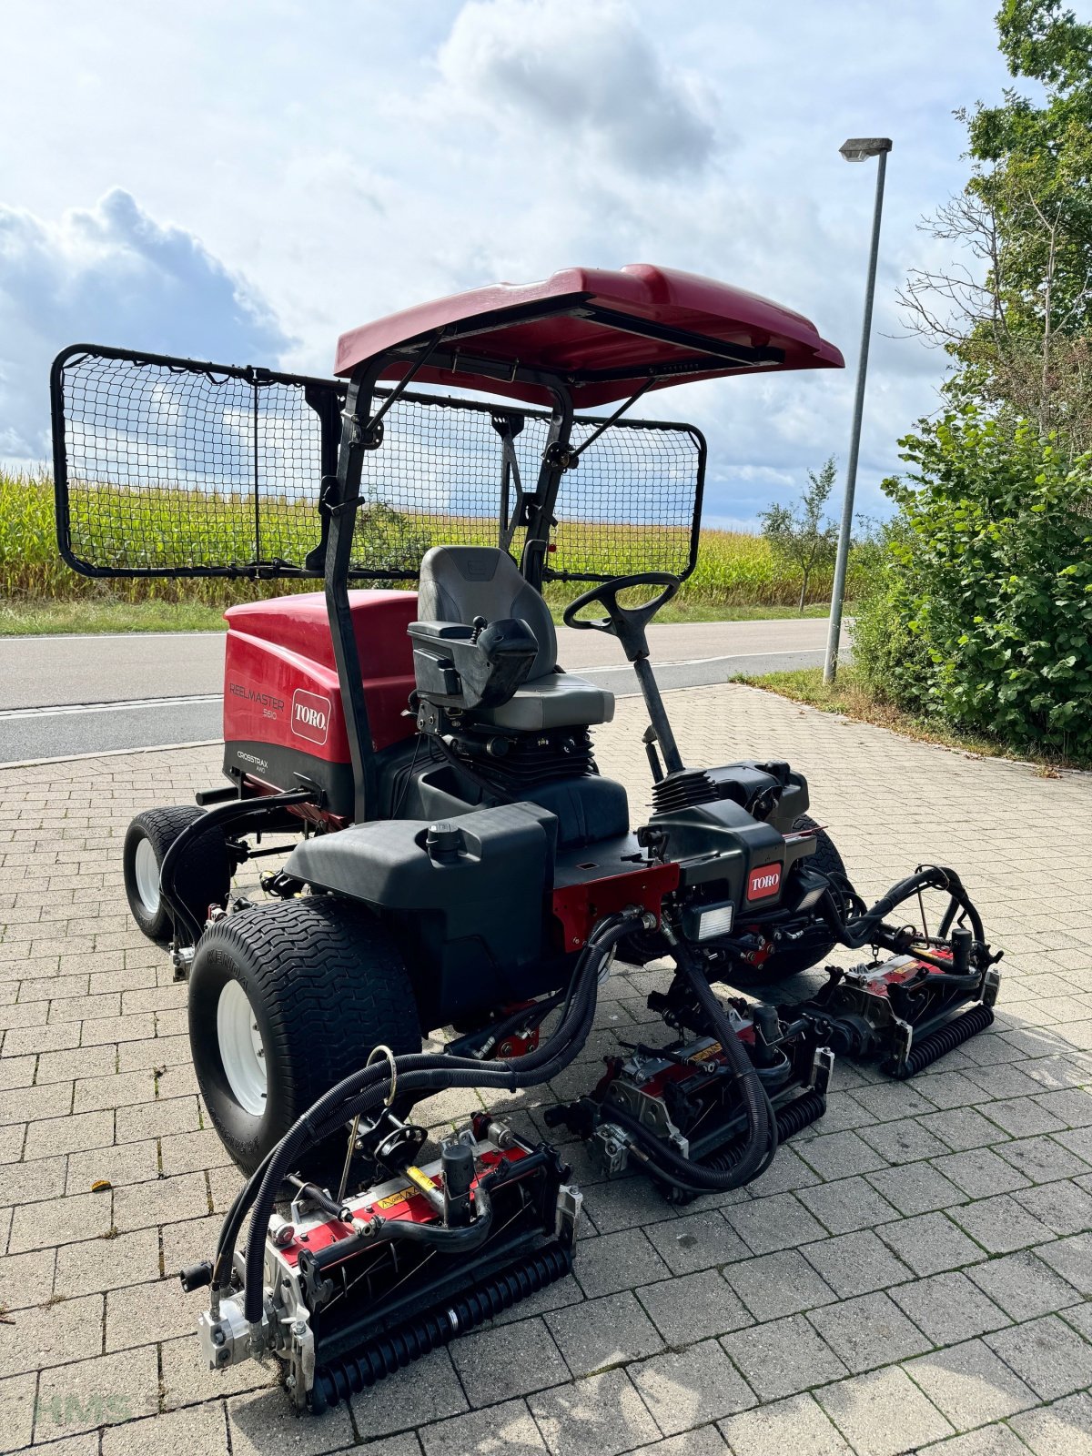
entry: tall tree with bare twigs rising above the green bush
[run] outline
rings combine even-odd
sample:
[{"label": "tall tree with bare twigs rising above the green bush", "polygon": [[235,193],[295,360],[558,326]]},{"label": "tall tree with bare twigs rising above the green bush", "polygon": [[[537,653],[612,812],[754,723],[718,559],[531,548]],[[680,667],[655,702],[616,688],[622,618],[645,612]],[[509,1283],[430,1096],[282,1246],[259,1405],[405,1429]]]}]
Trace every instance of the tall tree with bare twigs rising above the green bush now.
[{"label": "tall tree with bare twigs rising above the green bush", "polygon": [[1092,26],[1060,0],[1005,0],[997,32],[1015,89],[957,112],[971,176],[922,226],[955,258],[913,269],[910,326],[957,363],[948,402],[1008,409],[1070,459],[1092,447]]}]

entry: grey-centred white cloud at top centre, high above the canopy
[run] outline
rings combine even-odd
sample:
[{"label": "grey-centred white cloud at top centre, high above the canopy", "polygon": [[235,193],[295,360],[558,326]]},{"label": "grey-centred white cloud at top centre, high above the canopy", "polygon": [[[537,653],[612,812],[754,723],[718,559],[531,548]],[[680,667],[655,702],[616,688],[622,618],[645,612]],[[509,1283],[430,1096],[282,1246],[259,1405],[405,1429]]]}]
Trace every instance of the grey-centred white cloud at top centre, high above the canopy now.
[{"label": "grey-centred white cloud at top centre, high above the canopy", "polygon": [[437,61],[450,98],[494,127],[547,128],[569,163],[664,175],[713,150],[708,95],[619,0],[470,0]]}]

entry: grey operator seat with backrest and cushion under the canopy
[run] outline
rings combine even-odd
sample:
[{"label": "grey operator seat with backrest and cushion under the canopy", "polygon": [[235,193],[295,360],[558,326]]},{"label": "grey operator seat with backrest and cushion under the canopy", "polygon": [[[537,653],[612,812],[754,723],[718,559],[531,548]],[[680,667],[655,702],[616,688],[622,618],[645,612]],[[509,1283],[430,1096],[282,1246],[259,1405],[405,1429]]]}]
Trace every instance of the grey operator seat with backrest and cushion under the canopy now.
[{"label": "grey operator seat with backrest and cushion under the canopy", "polygon": [[527,680],[499,708],[478,708],[475,719],[534,732],[609,724],[614,695],[558,667],[558,635],[550,609],[520,575],[508,552],[496,546],[432,546],[421,562],[418,616],[422,622],[462,622],[475,617],[524,622],[539,644]]}]

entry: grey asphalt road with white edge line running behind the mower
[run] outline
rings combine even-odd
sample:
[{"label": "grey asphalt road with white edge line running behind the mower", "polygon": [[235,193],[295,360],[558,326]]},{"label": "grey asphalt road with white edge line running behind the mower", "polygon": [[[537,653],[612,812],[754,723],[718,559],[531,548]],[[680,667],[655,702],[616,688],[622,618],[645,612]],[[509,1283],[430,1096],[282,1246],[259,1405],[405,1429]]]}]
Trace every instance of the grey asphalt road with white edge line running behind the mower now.
[{"label": "grey asphalt road with white edge line running behind the mower", "polygon": [[[827,623],[696,622],[652,626],[664,692],[737,673],[814,667]],[[613,638],[561,628],[559,660],[617,697],[638,692]],[[0,763],[220,738],[224,639],[215,632],[0,639]]]}]

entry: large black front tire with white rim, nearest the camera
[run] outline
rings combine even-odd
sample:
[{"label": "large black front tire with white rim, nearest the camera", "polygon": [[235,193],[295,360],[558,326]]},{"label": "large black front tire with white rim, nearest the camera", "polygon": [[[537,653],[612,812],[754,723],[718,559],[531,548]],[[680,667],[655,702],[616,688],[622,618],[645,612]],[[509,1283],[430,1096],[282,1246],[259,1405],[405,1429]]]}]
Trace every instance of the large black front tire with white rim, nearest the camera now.
[{"label": "large black front tire with white rim, nearest the camera", "polygon": [[[288,1128],[377,1045],[421,1050],[402,957],[364,906],[304,895],[210,926],[189,971],[189,1045],[220,1142],[252,1174]],[[309,1178],[336,1182],[341,1139]]]}]

